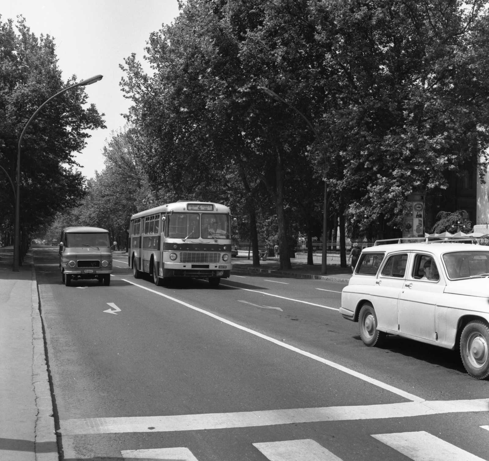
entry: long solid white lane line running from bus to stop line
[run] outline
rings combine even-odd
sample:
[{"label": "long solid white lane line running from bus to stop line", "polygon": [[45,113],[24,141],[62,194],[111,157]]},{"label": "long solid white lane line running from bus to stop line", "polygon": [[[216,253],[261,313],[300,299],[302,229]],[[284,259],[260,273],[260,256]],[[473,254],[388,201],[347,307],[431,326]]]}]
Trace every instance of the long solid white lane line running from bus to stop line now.
[{"label": "long solid white lane line running from bus to stop line", "polygon": [[[283,343],[282,341],[279,341],[278,339],[272,338],[270,336],[266,336],[265,334],[259,333],[258,331],[242,327],[241,325],[238,325],[237,323],[231,322],[230,320],[227,320],[223,317],[219,317],[216,314],[213,314],[212,312],[208,312],[207,310],[200,309],[200,307],[195,307],[192,306],[191,304],[185,303],[184,301],[180,301],[179,299],[172,298],[171,296],[168,296],[164,293],[161,293],[159,291],[153,290],[151,288],[147,288],[146,286],[143,285],[138,285],[135,284],[134,282],[131,282],[130,280],[127,279],[121,279],[124,282],[127,282],[131,285],[138,286],[139,288],[142,288],[143,290],[151,291],[152,293],[155,293],[159,296],[163,296],[164,298],[170,299],[171,301],[175,301],[178,304],[181,304],[186,307],[190,307],[191,309],[197,310],[198,312],[201,312],[202,314],[208,315],[209,317],[212,317],[214,319],[217,319],[221,321],[222,323],[226,323],[227,325],[230,325],[231,327],[235,327],[238,329],[241,329],[243,331],[246,331],[248,333],[254,334],[255,336],[258,336],[259,338],[266,339],[267,341],[270,341],[271,343],[278,344],[279,346],[289,349],[290,351],[297,352],[301,355],[305,355],[306,357],[309,357],[313,360],[317,360],[318,362],[324,363],[325,365],[329,365],[330,367],[335,368],[336,370],[339,370],[344,373],[351,374],[352,376],[355,376],[356,378],[362,379],[363,381],[367,381],[370,384],[373,384],[374,386],[378,386],[382,389],[385,389],[386,391],[390,391],[394,394],[400,395],[401,397],[407,398],[408,400],[413,400],[416,402],[422,402],[424,399],[421,397],[418,397],[417,395],[409,394],[408,392],[402,391],[401,389],[398,389],[394,386],[390,386],[389,384],[383,383],[382,381],[378,381],[377,379],[371,378],[370,376],[367,376],[366,374],[358,373],[354,370],[351,370],[349,368],[344,367],[343,365],[339,365],[335,362],[332,362],[331,360],[327,360],[323,357],[319,357],[318,355],[311,354],[311,352],[307,351],[302,351],[301,349],[298,349],[294,346],[290,346],[287,343]],[[253,290],[249,290],[253,291]]]}]

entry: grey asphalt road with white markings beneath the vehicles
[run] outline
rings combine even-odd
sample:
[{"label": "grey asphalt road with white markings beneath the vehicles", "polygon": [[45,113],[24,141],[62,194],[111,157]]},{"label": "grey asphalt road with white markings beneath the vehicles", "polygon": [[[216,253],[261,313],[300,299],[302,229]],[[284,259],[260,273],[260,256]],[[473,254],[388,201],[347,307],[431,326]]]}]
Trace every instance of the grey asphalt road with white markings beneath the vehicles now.
[{"label": "grey asphalt road with white markings beneath the vehicles", "polygon": [[62,459],[489,460],[489,381],[456,351],[364,347],[342,284],[156,287],[115,255],[110,286],[66,287],[57,248],[34,258]]}]

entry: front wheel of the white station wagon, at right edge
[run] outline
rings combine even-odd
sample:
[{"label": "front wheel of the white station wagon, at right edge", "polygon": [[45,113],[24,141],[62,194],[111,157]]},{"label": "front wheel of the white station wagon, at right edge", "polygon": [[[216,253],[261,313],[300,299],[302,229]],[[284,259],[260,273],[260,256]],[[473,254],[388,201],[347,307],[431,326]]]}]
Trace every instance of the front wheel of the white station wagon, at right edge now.
[{"label": "front wheel of the white station wagon, at right edge", "polygon": [[489,376],[489,327],[482,320],[469,322],[460,336],[460,356],[470,376]]}]

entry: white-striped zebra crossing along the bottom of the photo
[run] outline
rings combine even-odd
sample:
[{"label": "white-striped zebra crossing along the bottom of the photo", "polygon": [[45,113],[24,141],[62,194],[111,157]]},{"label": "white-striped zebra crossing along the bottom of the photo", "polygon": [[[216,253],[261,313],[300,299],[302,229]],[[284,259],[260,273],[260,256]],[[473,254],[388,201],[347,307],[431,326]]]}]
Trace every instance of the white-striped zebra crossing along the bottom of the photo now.
[{"label": "white-striped zebra crossing along the bottom of the photo", "polygon": [[[488,426],[480,426],[488,429]],[[426,431],[373,434],[372,437],[414,461],[486,461]],[[252,444],[269,461],[348,461],[312,439]],[[186,447],[124,450],[125,461],[199,461]]]}]

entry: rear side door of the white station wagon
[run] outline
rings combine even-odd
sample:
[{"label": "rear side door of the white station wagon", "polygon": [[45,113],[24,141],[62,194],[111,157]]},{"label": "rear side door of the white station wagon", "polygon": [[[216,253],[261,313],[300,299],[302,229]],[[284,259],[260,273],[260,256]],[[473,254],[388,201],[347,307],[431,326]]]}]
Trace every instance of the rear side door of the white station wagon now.
[{"label": "rear side door of the white station wagon", "polygon": [[408,256],[407,252],[388,255],[372,290],[377,326],[381,331],[398,332],[398,302],[406,278]]}]

